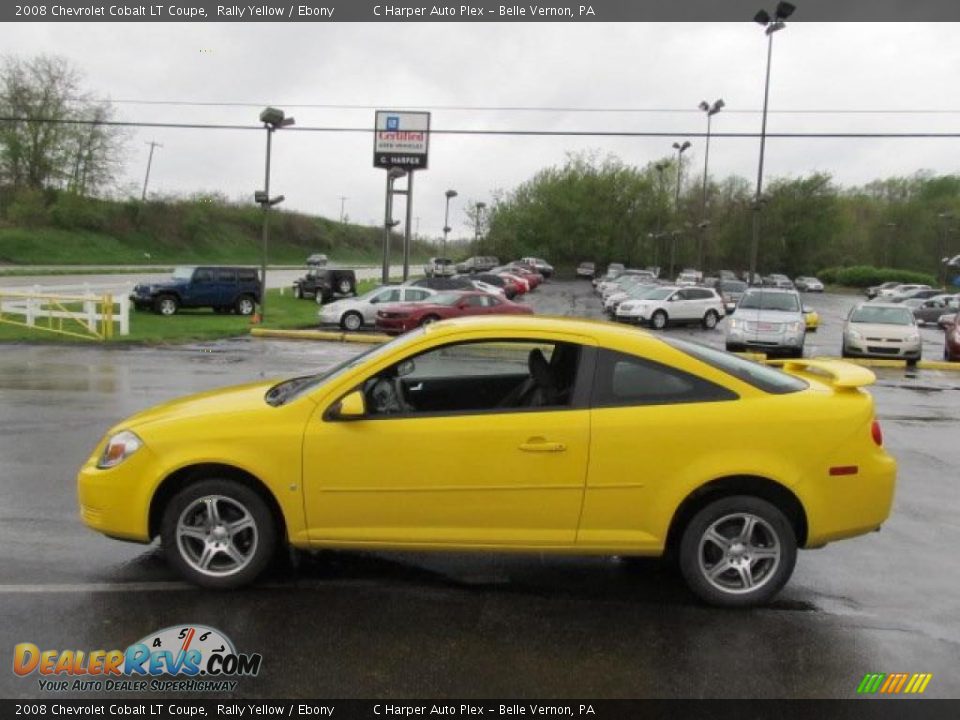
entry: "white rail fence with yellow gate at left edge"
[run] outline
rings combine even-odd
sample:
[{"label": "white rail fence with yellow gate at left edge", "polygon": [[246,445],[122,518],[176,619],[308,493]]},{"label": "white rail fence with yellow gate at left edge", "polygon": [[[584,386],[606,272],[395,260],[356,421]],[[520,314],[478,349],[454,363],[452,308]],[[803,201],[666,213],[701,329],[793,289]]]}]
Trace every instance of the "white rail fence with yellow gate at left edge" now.
[{"label": "white rail fence with yellow gate at left edge", "polygon": [[126,292],[114,296],[56,290],[0,290],[0,324],[92,340],[111,339],[117,324],[121,335],[130,334],[130,298]]}]

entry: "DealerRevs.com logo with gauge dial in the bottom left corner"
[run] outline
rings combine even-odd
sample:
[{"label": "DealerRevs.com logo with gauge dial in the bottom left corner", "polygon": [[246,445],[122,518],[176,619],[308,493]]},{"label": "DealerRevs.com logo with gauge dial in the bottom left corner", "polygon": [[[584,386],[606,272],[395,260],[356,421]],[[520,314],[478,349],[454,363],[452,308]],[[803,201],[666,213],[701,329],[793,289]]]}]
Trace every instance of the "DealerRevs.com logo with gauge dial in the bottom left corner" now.
[{"label": "DealerRevs.com logo with gauge dial in the bottom left corner", "polygon": [[49,692],[231,691],[236,678],[256,676],[262,661],[206,625],[164,628],[125,650],[41,650],[29,642],[13,649],[13,672],[38,675],[40,690]]}]

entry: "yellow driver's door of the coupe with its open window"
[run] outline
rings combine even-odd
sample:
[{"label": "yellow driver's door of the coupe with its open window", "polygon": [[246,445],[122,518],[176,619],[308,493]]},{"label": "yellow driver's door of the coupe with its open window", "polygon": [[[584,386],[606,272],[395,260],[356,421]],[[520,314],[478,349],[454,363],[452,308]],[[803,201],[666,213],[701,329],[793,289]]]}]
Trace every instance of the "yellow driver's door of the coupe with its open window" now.
[{"label": "yellow driver's door of the coupe with its open window", "polygon": [[575,401],[576,362],[562,396],[534,397],[530,354],[541,351],[547,366],[563,354],[541,341],[444,345],[363,381],[362,416],[318,408],[303,453],[311,541],[572,545],[590,412]]}]

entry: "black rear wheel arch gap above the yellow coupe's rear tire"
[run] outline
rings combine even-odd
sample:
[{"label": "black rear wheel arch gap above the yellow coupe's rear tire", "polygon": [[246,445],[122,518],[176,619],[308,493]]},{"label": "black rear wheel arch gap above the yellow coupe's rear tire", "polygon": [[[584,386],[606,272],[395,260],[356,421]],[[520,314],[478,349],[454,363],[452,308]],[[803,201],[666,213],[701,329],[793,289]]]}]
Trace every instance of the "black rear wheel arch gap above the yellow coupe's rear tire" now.
[{"label": "black rear wheel arch gap above the yellow coupe's rear tire", "polygon": [[670,520],[666,551],[674,553],[679,549],[683,529],[701,509],[715,500],[733,495],[758,497],[777,507],[793,526],[797,536],[797,546],[806,545],[807,513],[803,503],[789,488],[775,480],[758,475],[730,475],[701,485],[684,498]]}]

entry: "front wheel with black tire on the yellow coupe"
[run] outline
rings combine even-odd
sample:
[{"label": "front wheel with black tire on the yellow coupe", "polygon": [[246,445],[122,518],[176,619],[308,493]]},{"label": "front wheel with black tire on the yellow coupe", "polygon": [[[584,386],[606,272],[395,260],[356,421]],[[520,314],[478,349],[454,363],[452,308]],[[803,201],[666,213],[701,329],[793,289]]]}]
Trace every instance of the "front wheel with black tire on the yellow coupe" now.
[{"label": "front wheel with black tire on the yellow coupe", "polygon": [[[207,508],[217,508],[212,521]],[[247,525],[233,533],[230,524]],[[181,524],[182,522],[182,524]],[[182,527],[193,529],[184,534]],[[160,538],[170,565],[192,583],[216,590],[248,585],[274,557],[277,526],[270,508],[254,490],[234,480],[209,478],[174,495],[163,510]],[[232,548],[242,562],[227,554]],[[206,571],[201,569],[208,557]]]}]

